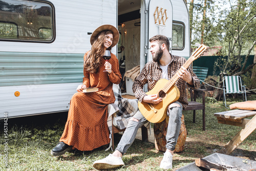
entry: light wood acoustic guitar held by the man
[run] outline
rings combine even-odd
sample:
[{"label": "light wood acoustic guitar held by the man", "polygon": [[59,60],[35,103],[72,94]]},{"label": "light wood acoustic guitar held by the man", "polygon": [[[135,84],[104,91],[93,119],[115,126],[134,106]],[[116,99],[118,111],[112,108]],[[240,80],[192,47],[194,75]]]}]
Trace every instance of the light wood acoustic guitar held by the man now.
[{"label": "light wood acoustic guitar held by the man", "polygon": [[[205,45],[200,45],[195,52],[187,59],[183,64],[184,68],[188,68],[189,65],[196,59],[198,59],[204,51],[207,49]],[[162,101],[158,104],[138,102],[138,107],[142,115],[146,120],[152,123],[162,122],[167,116],[167,108],[170,103],[177,101],[180,97],[179,89],[176,87],[175,82],[179,79],[178,73],[182,69],[180,68],[172,79],[160,79],[157,81],[155,87],[147,92],[147,95],[157,94],[158,97],[162,98]]]}]

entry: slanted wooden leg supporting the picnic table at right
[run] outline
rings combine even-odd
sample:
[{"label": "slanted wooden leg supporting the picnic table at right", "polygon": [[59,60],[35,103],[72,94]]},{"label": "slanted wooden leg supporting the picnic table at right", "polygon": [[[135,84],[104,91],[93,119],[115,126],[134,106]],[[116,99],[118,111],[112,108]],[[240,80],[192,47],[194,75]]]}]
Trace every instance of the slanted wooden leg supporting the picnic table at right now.
[{"label": "slanted wooden leg supporting the picnic table at right", "polygon": [[225,146],[226,154],[229,155],[243,140],[256,129],[256,115],[245,125],[236,136],[234,136]]}]

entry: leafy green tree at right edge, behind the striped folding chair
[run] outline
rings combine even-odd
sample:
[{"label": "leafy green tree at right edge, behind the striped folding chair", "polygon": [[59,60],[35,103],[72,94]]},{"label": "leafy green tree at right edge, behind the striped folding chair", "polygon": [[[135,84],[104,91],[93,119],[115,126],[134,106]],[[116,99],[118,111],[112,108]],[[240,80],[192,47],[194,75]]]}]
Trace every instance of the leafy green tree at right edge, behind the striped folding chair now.
[{"label": "leafy green tree at right edge, behind the striped folding chair", "polygon": [[[222,55],[227,58],[223,58],[223,65],[218,64],[221,70],[219,88],[222,88],[224,76],[244,75],[256,65],[256,62],[248,63],[248,57],[256,45],[256,3],[254,0],[239,0],[236,6],[231,6],[230,11],[224,9],[221,14],[224,14],[224,18],[217,20],[215,30],[222,42]],[[218,89],[215,98],[220,100],[222,93]]]}]

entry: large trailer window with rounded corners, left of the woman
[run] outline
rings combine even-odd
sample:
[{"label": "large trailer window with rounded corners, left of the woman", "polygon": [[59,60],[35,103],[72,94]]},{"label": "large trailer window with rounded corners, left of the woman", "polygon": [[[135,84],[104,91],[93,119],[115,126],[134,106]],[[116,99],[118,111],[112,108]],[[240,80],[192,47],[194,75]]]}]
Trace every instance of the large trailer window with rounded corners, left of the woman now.
[{"label": "large trailer window with rounded corners, left of the woman", "polygon": [[53,42],[54,6],[44,1],[1,0],[0,40]]}]

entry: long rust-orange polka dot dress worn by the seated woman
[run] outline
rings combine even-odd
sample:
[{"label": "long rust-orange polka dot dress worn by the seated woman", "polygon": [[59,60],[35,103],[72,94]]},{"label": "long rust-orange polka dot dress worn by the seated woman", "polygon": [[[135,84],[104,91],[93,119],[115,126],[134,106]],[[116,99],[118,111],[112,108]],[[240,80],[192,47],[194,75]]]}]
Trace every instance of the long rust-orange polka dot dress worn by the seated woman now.
[{"label": "long rust-orange polka dot dress worn by the seated woman", "polygon": [[[89,52],[84,55],[84,59]],[[65,130],[59,141],[72,145],[73,149],[91,151],[94,148],[110,143],[108,119],[108,104],[114,103],[115,96],[112,89],[113,83],[119,84],[121,74],[118,59],[111,54],[109,62],[112,72],[105,70],[105,60],[101,59],[97,73],[83,70],[83,84],[86,87],[96,87],[98,92],[80,93],[73,95]]]}]

